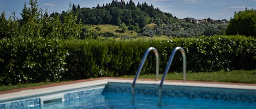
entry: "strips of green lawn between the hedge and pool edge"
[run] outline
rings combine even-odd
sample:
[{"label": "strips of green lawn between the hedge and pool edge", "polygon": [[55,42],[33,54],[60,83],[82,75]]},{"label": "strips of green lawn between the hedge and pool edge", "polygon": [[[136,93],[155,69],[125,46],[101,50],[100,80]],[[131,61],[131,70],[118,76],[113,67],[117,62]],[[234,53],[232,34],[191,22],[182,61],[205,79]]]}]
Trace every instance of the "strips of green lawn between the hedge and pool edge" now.
[{"label": "strips of green lawn between the hedge and pool edge", "polygon": [[[134,78],[135,75],[125,75],[122,78]],[[162,74],[159,75],[159,79],[162,78]],[[256,84],[256,70],[234,70],[230,72],[199,72],[199,73],[187,73],[186,80],[188,81],[215,81],[215,82],[235,82],[235,83],[247,83]],[[156,74],[144,75],[142,72],[139,78],[144,79],[156,79]],[[169,73],[166,75],[166,80],[183,80],[182,73]],[[0,86],[1,91],[8,91],[11,89],[19,89],[33,86],[43,86],[49,84],[56,84],[59,82],[40,82],[36,84],[21,84]]]}]

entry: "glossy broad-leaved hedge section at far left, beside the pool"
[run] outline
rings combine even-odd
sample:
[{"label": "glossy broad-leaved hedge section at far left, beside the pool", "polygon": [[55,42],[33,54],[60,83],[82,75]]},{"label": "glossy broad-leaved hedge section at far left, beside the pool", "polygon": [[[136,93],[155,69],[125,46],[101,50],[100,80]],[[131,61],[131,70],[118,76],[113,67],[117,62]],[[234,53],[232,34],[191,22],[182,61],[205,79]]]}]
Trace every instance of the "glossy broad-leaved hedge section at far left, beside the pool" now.
[{"label": "glossy broad-leaved hedge section at far left, beside the pool", "polygon": [[66,71],[67,50],[60,40],[13,37],[0,40],[0,82],[56,81]]}]

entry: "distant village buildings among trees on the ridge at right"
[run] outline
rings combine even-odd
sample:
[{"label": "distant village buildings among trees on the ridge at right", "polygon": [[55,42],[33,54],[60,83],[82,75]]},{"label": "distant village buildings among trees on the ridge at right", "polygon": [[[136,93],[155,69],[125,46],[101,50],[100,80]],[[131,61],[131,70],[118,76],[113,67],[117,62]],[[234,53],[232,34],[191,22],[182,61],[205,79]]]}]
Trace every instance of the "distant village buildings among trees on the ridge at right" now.
[{"label": "distant village buildings among trees on the ridge at right", "polygon": [[186,17],[183,19],[180,19],[180,21],[186,21],[186,22],[191,22],[195,24],[206,24],[206,23],[212,23],[212,24],[222,24],[222,25],[228,25],[229,21],[228,20],[212,20],[211,18],[206,18],[203,20],[196,20],[195,18],[191,17]]}]

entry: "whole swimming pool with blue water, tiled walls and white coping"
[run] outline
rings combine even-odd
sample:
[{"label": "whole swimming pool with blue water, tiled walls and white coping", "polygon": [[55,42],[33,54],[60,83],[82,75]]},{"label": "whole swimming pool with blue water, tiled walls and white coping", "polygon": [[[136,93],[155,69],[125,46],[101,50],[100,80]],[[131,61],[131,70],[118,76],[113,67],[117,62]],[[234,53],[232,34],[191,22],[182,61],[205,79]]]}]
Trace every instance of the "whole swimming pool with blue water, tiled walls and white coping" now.
[{"label": "whole swimming pool with blue water, tiled walls and white coping", "polygon": [[[131,83],[131,80],[102,79],[9,93],[0,95],[0,108],[256,107],[256,86],[166,82],[162,90],[162,105],[159,106],[159,81],[138,81],[134,100],[131,99]],[[27,95],[22,96],[21,93],[27,93]]]}]

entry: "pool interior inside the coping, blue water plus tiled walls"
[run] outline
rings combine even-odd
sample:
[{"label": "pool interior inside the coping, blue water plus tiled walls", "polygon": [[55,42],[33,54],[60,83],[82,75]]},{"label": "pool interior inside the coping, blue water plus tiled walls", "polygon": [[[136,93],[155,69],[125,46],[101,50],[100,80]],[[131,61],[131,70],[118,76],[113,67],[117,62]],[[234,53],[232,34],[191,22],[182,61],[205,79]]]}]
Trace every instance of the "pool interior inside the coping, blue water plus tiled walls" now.
[{"label": "pool interior inside the coping, blue water plus tiled walls", "polygon": [[[164,86],[162,105],[158,105],[158,85],[136,85],[135,99],[131,85],[108,83],[85,89],[62,92],[62,99],[44,101],[45,95],[15,101],[0,102],[0,109],[64,109],[64,108],[256,108],[256,91],[212,87]],[[52,93],[51,95],[60,93]],[[50,96],[51,95],[47,95]],[[64,100],[64,101],[62,101]],[[41,104],[43,101],[44,104]]]}]

